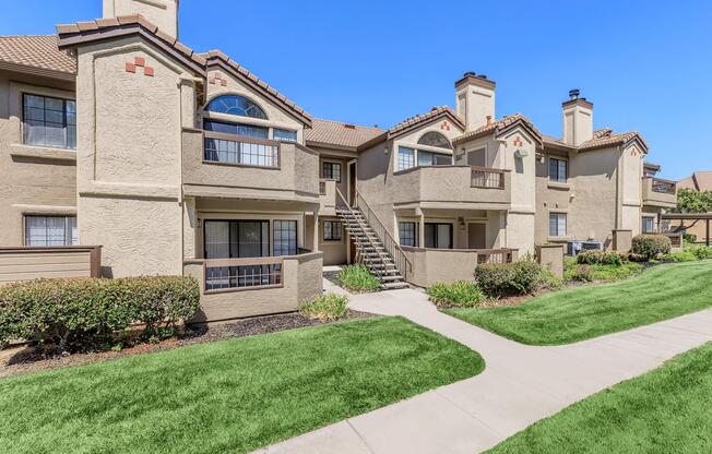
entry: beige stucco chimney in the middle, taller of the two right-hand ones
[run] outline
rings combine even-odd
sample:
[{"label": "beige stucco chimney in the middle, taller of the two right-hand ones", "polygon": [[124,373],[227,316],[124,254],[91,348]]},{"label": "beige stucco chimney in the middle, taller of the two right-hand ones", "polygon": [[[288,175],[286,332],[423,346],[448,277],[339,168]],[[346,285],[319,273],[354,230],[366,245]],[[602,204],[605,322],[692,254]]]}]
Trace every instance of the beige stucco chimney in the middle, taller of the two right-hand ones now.
[{"label": "beige stucco chimney in the middle, taller of the two right-hand ones", "polygon": [[465,122],[467,131],[487,124],[495,118],[495,81],[486,75],[466,72],[455,82],[455,110]]}]

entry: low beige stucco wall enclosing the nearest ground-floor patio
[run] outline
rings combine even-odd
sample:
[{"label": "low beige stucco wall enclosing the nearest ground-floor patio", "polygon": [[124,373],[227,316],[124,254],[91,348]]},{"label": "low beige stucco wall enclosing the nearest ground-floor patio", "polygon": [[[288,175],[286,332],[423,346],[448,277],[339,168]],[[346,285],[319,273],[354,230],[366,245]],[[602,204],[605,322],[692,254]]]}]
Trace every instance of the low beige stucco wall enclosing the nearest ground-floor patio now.
[{"label": "low beige stucco wall enclosing the nearest ground-floor patio", "polygon": [[198,279],[201,287],[201,312],[194,322],[292,312],[298,309],[299,302],[321,295],[321,253],[285,258],[283,266],[284,280],[281,287],[206,295],[202,261],[187,262],[185,274]]}]

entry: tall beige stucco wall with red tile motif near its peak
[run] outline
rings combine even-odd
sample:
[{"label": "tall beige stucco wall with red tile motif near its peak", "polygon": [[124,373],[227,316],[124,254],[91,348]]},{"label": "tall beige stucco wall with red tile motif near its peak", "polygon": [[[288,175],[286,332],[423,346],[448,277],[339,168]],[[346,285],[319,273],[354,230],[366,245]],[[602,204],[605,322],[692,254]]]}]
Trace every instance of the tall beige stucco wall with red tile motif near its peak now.
[{"label": "tall beige stucco wall with red tile motif near its peak", "polygon": [[[135,57],[153,76],[126,70]],[[80,240],[104,247],[109,276],[180,274],[181,129],[194,111],[181,92],[193,74],[139,37],[80,48],[78,61]]]}]

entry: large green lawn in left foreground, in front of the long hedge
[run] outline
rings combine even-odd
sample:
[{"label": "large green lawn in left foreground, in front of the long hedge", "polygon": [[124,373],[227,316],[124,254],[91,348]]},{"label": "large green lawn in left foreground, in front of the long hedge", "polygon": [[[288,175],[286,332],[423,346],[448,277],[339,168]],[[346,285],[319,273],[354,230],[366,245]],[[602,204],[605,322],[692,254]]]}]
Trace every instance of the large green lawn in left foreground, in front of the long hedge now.
[{"label": "large green lawn in left foreground, in front of the long hedge", "polygon": [[215,342],[0,380],[0,446],[242,453],[483,369],[400,318]]}]

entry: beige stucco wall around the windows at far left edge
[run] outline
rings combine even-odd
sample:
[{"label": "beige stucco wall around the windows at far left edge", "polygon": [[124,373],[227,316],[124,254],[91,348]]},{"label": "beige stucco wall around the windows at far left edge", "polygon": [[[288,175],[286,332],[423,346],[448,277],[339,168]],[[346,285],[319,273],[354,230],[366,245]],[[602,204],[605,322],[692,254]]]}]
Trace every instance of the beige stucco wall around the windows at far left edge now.
[{"label": "beige stucco wall around the windows at far left edge", "polygon": [[0,72],[0,246],[24,244],[23,215],[76,214],[76,152],[23,145],[23,93],[74,99],[74,84]]}]

